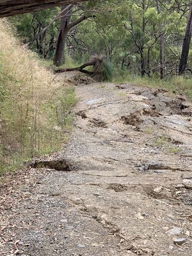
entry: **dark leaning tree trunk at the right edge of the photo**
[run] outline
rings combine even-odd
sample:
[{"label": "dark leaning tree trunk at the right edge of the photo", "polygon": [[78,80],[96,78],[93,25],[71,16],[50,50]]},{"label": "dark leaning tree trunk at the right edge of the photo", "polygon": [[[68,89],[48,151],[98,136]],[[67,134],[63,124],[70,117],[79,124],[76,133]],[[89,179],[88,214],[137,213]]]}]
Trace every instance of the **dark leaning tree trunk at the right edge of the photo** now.
[{"label": "dark leaning tree trunk at the right edge of the photo", "polygon": [[185,37],[183,39],[183,47],[182,47],[181,58],[179,63],[179,75],[182,75],[185,72],[185,69],[187,66],[191,32],[192,32],[192,0],[190,1],[190,9],[189,9],[189,14],[187,19],[187,26],[185,30]]}]

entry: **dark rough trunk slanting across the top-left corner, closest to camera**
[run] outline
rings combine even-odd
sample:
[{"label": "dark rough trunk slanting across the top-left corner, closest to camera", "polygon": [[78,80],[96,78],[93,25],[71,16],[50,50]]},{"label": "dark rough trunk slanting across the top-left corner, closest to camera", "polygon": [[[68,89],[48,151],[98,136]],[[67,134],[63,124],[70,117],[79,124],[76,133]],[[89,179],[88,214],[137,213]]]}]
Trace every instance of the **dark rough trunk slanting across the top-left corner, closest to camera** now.
[{"label": "dark rough trunk slanting across the top-left corner, closest to camera", "polygon": [[8,17],[26,12],[36,12],[55,6],[70,5],[87,0],[1,0],[0,17]]}]

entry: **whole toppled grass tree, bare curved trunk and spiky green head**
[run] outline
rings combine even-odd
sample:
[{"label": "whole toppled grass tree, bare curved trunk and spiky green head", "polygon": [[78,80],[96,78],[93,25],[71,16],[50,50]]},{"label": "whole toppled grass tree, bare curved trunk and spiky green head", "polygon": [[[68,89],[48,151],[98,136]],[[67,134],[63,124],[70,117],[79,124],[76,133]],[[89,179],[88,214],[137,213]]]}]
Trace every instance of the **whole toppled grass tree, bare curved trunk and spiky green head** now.
[{"label": "whole toppled grass tree, bare curved trunk and spiky green head", "polygon": [[[93,66],[92,71],[84,70],[84,68]],[[76,68],[65,68],[57,69],[56,73],[68,72],[68,71],[79,71],[84,74],[91,75],[97,81],[110,81],[113,76],[113,67],[112,64],[105,59],[103,55],[93,55],[91,56],[89,62],[84,63],[83,65]]]}]

